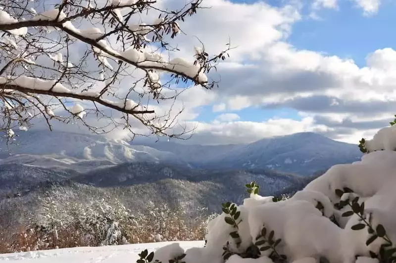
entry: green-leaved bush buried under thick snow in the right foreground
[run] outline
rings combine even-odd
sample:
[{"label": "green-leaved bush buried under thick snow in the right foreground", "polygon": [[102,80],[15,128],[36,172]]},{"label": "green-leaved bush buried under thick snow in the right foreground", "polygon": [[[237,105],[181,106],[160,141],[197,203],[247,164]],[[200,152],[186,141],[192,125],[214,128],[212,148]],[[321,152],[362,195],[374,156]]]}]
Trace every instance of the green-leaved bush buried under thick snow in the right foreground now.
[{"label": "green-leaved bush buried under thick snow in the right foreground", "polygon": [[262,197],[247,184],[243,204],[222,204],[208,223],[203,248],[172,244],[161,248],[169,255],[161,261],[185,254],[186,263],[396,262],[395,131],[363,139],[360,161],[334,165],[290,198]]}]

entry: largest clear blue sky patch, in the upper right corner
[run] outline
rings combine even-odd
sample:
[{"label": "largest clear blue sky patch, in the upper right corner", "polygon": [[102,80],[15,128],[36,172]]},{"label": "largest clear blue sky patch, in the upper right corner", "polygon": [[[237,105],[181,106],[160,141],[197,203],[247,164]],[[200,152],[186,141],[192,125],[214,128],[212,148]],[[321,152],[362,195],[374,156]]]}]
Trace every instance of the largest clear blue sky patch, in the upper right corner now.
[{"label": "largest clear blue sky patch, in the upper right corner", "polygon": [[349,57],[364,66],[368,53],[395,47],[395,11],[395,3],[384,3],[377,14],[364,16],[351,1],[343,0],[339,10],[320,10],[322,20],[305,18],[297,22],[289,42],[298,49]]}]

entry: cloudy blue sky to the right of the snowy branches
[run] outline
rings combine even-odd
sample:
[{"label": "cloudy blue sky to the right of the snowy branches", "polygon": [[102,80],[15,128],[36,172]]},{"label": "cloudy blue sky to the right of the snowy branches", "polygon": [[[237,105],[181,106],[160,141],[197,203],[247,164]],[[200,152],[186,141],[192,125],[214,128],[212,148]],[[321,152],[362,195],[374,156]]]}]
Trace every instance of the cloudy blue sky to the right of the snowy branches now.
[{"label": "cloudy blue sky to the right of the snowy branches", "polygon": [[[180,0],[162,0],[173,6]],[[230,58],[177,103],[195,127],[184,143],[250,143],[317,132],[358,143],[396,114],[396,2],[392,0],[203,0],[180,26],[180,53],[197,37],[208,53],[230,40]],[[70,128],[75,129],[74,127]],[[112,133],[123,137],[125,132]]]}]

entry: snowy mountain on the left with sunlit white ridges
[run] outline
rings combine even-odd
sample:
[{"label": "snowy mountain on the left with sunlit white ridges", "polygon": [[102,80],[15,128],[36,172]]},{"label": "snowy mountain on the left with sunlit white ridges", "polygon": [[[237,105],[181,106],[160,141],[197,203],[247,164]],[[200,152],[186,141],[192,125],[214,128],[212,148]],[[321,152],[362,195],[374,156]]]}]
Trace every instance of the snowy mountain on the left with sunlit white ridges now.
[{"label": "snowy mountain on the left with sunlit white ridges", "polygon": [[20,132],[8,147],[0,142],[0,165],[23,163],[40,167],[64,167],[85,172],[124,162],[166,162],[188,165],[175,154],[123,140],[66,132]]}]

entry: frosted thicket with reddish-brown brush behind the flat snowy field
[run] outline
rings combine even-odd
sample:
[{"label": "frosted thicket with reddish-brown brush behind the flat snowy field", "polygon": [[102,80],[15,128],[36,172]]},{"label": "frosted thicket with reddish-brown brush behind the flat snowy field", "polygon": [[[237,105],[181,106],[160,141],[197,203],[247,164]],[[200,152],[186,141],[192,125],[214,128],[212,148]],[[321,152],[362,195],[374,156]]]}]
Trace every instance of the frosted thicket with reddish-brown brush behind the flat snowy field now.
[{"label": "frosted thicket with reddish-brown brush behind the flat snowy field", "polygon": [[25,228],[3,233],[0,253],[80,246],[123,245],[160,241],[203,240],[206,225],[215,214],[198,209],[190,218],[182,209],[148,202],[146,209],[131,211],[117,198],[93,197],[88,202],[61,203],[47,194],[43,209]]}]

